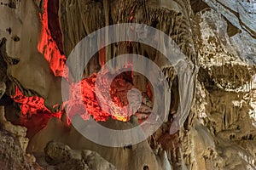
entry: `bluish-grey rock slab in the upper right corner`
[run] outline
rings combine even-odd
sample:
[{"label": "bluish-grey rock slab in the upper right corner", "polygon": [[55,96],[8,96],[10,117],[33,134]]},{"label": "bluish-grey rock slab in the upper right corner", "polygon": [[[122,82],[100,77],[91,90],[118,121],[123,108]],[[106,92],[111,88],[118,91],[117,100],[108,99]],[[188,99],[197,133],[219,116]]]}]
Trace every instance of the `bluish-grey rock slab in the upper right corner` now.
[{"label": "bluish-grey rock slab in the upper right corner", "polygon": [[[230,41],[238,48],[234,49],[239,57],[247,63],[255,64],[256,50],[256,3],[253,0],[249,1],[219,1],[219,0],[204,0],[205,3],[214,10],[222,14],[229,23],[229,31],[236,32],[239,29],[241,33],[234,34],[230,37]],[[236,27],[236,28],[235,28]]]}]

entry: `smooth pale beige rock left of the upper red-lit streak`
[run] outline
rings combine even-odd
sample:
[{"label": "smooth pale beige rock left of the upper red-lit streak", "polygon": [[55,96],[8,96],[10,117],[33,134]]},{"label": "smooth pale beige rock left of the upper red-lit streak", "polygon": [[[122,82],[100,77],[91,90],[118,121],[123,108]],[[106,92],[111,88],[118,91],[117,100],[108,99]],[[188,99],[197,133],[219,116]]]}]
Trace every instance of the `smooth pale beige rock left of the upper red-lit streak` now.
[{"label": "smooth pale beige rock left of the upper red-lit streak", "polygon": [[[15,8],[5,3],[14,4]],[[4,42],[3,58],[9,79],[23,94],[43,97],[49,110],[55,111],[53,106],[62,100],[61,77],[54,77],[44,55],[38,52],[41,33],[38,7],[32,0],[5,3],[0,5],[0,40]]]}]

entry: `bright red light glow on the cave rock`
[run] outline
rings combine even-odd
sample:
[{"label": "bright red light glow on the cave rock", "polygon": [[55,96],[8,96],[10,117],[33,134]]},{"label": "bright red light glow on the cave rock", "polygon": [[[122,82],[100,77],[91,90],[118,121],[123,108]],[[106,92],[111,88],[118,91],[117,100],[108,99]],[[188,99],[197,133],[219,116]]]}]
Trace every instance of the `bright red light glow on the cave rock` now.
[{"label": "bright red light glow on the cave rock", "polygon": [[[42,30],[40,39],[38,41],[38,51],[41,54],[44,54],[44,58],[49,62],[49,67],[51,71],[53,71],[55,77],[65,77],[68,79],[68,70],[65,67],[65,62],[67,59],[63,54],[61,54],[55,40],[51,37],[50,34],[47,8],[48,3],[48,0],[44,0],[44,14],[39,14],[40,20],[42,22]],[[132,19],[133,17],[131,17],[131,20]],[[104,47],[102,47],[102,49],[99,51],[99,58],[101,65],[104,65],[106,62]],[[127,74],[125,78],[123,76],[124,75],[120,75],[119,77],[116,77],[113,80],[110,89],[104,88],[104,86],[102,86],[102,93],[109,93],[111,95],[110,100],[113,101],[114,105],[109,107],[112,107],[113,110],[115,110],[117,107],[119,107],[120,110],[125,108],[124,106],[128,104],[126,94],[131,88],[133,88],[131,83],[132,72],[128,75],[128,79],[130,79],[129,82],[125,81],[125,78],[127,79]],[[127,121],[129,116],[131,116],[131,113],[129,113],[129,111],[124,111],[125,109],[121,111],[126,113],[125,115],[120,115],[120,113],[112,113],[112,115],[110,115],[107,112],[102,111],[102,108],[96,99],[95,82],[96,74],[93,74],[89,78],[84,78],[81,82],[71,84],[70,99],[63,103],[63,109],[58,113],[52,113],[49,111],[49,109],[47,109],[44,105],[43,98],[37,96],[26,97],[20,92],[19,88],[15,89],[15,95],[12,96],[12,98],[16,103],[20,104],[20,109],[22,112],[21,119],[23,121],[23,125],[26,127],[36,126],[35,123],[30,122],[29,117],[38,117],[39,115],[44,115],[42,116],[44,119],[41,118],[40,121],[38,121],[38,123],[41,125],[40,128],[43,128],[50,117],[61,117],[61,114],[64,111],[64,107],[69,113],[71,113],[69,114],[69,118],[79,114],[84,118],[84,120],[88,120],[90,116],[93,116],[96,121],[106,121],[108,117],[112,116],[113,119],[124,122]],[[82,87],[81,90],[79,89],[79,85]],[[84,106],[86,107],[86,111],[84,110]],[[39,120],[39,118],[35,119]]]}]

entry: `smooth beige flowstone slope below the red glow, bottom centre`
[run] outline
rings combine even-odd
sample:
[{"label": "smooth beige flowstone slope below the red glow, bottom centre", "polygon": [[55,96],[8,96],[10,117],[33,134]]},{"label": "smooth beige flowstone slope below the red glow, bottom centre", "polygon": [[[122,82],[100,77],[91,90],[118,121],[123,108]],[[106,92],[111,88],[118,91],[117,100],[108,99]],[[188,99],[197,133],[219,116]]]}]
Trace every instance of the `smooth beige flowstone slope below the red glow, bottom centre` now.
[{"label": "smooth beige flowstone slope below the red glow, bottom centre", "polygon": [[[83,122],[82,119],[80,121]],[[103,126],[112,129],[127,129],[137,125],[137,121],[118,122],[113,121],[112,119],[108,119],[107,122],[101,123]],[[86,126],[86,128],[88,129],[91,128],[90,124],[84,124],[84,126]],[[156,150],[154,152],[154,150],[150,148],[147,141],[143,141],[139,144],[134,144],[131,147],[127,148],[102,146],[100,144],[91,142],[89,139],[85,139],[84,136],[82,136],[75,129],[75,127],[67,128],[65,122],[60,122],[59,120],[56,120],[54,118],[50,119],[48,125],[32,138],[28,146],[28,151],[42,152],[44,150],[45,145],[52,140],[61,142],[63,144],[68,144],[73,150],[95,151],[100,156],[102,156],[102,158],[112,163],[113,166],[115,166],[117,169],[143,169],[144,166],[148,166],[149,168],[152,169],[163,170],[168,170],[171,168],[170,163],[167,160],[166,151]],[[70,155],[70,153],[73,153],[73,151],[69,151],[70,149],[68,146],[65,146],[64,148],[65,150],[68,150],[68,155]],[[85,151],[82,153],[82,156],[85,156],[87,157],[86,159],[90,160],[92,158],[90,156],[91,153],[90,151]],[[80,156],[80,154],[76,154],[76,156]],[[129,159],[127,159],[127,157],[129,157]],[[91,159],[90,161],[93,163],[95,160]]]}]

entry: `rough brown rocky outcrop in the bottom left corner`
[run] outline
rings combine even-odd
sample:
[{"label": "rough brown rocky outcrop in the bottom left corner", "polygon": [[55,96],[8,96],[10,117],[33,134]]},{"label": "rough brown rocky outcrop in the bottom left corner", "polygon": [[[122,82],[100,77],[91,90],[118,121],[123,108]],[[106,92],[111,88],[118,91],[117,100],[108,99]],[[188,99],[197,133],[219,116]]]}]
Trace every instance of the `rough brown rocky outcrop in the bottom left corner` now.
[{"label": "rough brown rocky outcrop in the bottom left corner", "polygon": [[15,126],[4,116],[4,107],[0,106],[0,169],[37,169],[34,156],[26,154],[28,139],[26,127]]}]

